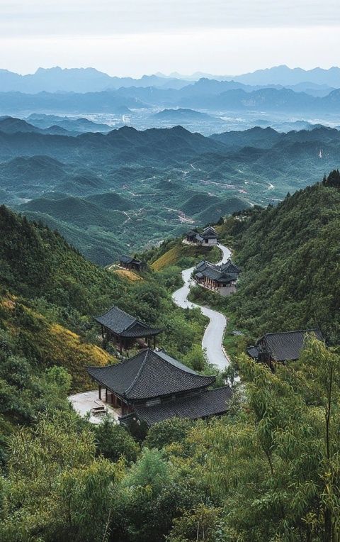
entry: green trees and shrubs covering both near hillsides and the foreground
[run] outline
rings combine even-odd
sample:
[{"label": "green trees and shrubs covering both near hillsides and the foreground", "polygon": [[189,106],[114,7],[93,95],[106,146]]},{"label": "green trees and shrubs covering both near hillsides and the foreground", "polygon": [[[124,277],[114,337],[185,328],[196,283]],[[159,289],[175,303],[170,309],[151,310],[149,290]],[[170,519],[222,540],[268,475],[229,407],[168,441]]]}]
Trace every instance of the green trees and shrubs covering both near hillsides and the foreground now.
[{"label": "green trees and shrubs covering both near hillsides and the foreground", "polygon": [[[232,309],[232,325],[254,333],[312,325],[316,314],[336,343],[337,178],[221,221],[243,269],[239,292],[194,295]],[[86,262],[45,226],[5,208],[0,220],[1,541],[339,540],[338,348],[311,336],[300,360],[275,372],[240,355],[242,385],[219,419],[171,419],[139,441],[108,419],[90,426],[66,398],[88,385],[89,358],[113,360],[94,311],[115,303],[163,327],[169,353],[209,370],[205,319],[171,302],[181,267],[204,255],[171,240],[145,254],[156,270],[132,282]]]}]

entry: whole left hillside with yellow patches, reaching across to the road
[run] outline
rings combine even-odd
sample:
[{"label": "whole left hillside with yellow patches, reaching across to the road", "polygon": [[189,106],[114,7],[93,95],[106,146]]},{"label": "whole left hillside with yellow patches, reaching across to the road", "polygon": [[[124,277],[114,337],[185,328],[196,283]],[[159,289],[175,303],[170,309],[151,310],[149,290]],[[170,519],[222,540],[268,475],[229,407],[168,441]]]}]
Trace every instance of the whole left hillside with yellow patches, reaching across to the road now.
[{"label": "whole left hillside with yellow patches, reaching across to the road", "polygon": [[[132,282],[5,206],[0,231],[0,468],[3,438],[13,424],[59,409],[69,390],[91,386],[86,365],[115,362],[115,349],[98,339],[92,318],[113,305],[164,329],[159,345],[203,370],[205,319],[198,311],[183,314],[171,302],[181,284],[176,262],[169,272],[149,270]],[[202,258],[192,256],[190,265]]]}]

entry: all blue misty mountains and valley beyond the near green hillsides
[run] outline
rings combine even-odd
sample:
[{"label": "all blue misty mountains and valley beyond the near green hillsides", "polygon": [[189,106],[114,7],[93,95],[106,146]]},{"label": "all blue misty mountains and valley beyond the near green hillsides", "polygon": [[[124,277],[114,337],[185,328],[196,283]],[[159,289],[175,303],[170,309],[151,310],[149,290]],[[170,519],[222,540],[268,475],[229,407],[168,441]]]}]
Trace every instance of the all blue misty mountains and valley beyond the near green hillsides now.
[{"label": "all blue misty mountains and valley beyond the near green hillsides", "polygon": [[2,70],[0,204],[101,265],[275,205],[339,167],[339,72],[283,66],[193,80]]}]

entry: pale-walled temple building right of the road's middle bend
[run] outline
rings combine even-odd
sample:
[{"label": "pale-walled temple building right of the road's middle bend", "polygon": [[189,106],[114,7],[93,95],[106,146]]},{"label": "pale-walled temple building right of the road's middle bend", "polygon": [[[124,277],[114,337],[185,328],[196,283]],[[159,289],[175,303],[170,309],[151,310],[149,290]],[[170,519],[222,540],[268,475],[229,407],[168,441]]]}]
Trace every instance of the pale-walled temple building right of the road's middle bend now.
[{"label": "pale-walled temple building right of the road's middle bend", "polygon": [[196,265],[193,276],[198,284],[212,289],[222,296],[228,296],[236,292],[236,283],[240,272],[240,268],[232,260],[221,265],[214,265],[203,260]]}]

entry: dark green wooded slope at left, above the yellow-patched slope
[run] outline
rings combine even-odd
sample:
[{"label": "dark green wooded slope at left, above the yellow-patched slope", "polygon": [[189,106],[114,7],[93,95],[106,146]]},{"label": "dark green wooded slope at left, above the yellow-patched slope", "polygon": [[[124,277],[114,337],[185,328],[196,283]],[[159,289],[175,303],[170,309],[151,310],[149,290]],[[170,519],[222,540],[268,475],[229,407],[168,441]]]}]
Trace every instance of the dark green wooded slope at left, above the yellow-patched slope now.
[{"label": "dark green wooded slope at left, above the yellow-patched slope", "polygon": [[57,231],[0,206],[0,284],[23,297],[45,297],[81,314],[101,309],[118,278],[87,261]]}]

